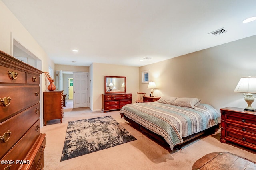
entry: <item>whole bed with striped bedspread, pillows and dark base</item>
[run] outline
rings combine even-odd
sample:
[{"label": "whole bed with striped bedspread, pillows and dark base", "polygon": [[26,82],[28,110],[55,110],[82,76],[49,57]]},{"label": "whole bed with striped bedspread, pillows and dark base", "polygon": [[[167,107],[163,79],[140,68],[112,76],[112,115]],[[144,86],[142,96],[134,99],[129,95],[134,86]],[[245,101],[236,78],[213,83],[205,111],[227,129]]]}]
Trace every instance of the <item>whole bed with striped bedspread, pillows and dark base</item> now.
[{"label": "whole bed with striped bedspread, pillows and dark base", "polygon": [[127,104],[120,110],[121,118],[137,128],[166,142],[170,149],[218,129],[220,112],[197,98],[163,96],[156,102]]}]

